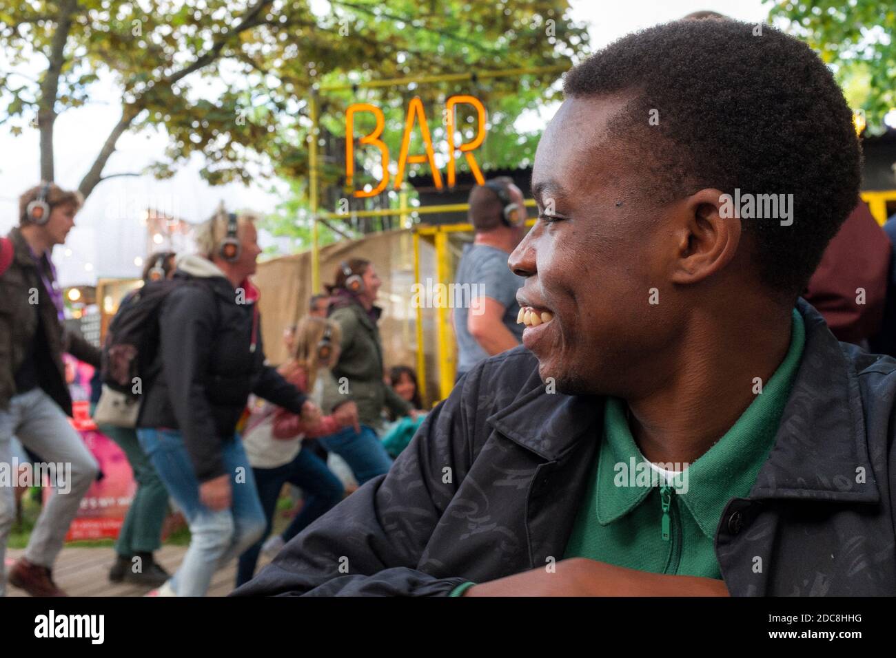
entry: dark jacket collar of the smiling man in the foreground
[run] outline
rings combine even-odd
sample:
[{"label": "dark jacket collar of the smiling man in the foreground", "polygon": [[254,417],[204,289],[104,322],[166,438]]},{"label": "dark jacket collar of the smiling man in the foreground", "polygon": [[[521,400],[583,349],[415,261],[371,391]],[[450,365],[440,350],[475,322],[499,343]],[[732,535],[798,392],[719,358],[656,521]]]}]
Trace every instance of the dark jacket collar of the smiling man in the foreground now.
[{"label": "dark jacket collar of the smiling man in the foreground", "polygon": [[[750,498],[876,502],[855,367],[819,312],[802,299],[797,312],[806,328],[803,358]],[[487,423],[548,461],[580,440],[601,440],[604,397],[547,393],[534,355],[530,363],[525,392]],[[856,482],[859,473],[865,483]]]}]

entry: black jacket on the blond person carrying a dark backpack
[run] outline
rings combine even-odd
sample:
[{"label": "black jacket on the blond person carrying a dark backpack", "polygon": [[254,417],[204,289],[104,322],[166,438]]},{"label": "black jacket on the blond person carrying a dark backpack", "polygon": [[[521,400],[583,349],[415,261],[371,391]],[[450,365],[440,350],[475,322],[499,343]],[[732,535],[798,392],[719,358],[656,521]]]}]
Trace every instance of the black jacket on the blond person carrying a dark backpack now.
[{"label": "black jacket on the blond person carrying a dark backpack", "polygon": [[251,292],[237,303],[239,293],[216,270],[198,256],[178,263],[175,278],[185,285],[161,303],[158,355],[137,421],[180,430],[200,482],[224,474],[221,446],[235,440],[250,393],[295,414],[307,399],[264,364]]}]

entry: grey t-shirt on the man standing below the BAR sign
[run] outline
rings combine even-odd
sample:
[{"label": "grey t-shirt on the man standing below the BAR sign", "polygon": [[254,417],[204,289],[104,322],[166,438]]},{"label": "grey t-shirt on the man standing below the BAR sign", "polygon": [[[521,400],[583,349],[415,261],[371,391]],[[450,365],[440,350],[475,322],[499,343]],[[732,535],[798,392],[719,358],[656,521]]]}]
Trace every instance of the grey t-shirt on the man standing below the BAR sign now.
[{"label": "grey t-shirt on the man standing below the BAR sign", "polygon": [[[516,323],[520,314],[520,304],[516,303],[516,291],[522,286],[523,278],[517,277],[507,267],[510,254],[485,244],[467,244],[461,254],[461,262],[457,266],[455,282],[458,286],[469,286],[469,295],[465,294],[468,303],[454,308],[454,335],[457,338],[457,372],[467,372],[476,363],[488,356],[470,336],[467,329],[467,316],[477,312],[471,308],[476,297],[490,297],[504,305],[504,326],[510,329],[517,340],[522,340],[525,327]],[[463,288],[465,291],[467,288]],[[481,304],[481,302],[479,302]],[[481,309],[481,306],[479,306]]]}]

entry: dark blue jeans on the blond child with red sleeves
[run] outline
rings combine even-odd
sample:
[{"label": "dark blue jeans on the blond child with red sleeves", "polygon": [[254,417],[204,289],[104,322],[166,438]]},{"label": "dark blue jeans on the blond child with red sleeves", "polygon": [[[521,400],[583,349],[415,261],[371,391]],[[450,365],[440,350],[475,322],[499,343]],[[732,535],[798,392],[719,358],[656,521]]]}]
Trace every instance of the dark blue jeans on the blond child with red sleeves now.
[{"label": "dark blue jeans on the blond child with red sleeves", "polygon": [[264,539],[271,534],[277,499],[280,498],[280,491],[285,483],[295,484],[302,489],[305,494],[305,504],[292,519],[289,527],[283,531],[284,542],[289,542],[317,517],[322,517],[324,513],[342,500],[342,495],[345,493],[339,478],[331,473],[323,459],[317,457],[309,449],[303,449],[289,464],[277,468],[253,468],[252,470],[255,486],[258,487],[258,497],[262,501],[264,516],[267,519],[267,526],[264,527],[262,538],[239,556],[237,587],[249,582],[254,576],[258,554],[262,551]]}]

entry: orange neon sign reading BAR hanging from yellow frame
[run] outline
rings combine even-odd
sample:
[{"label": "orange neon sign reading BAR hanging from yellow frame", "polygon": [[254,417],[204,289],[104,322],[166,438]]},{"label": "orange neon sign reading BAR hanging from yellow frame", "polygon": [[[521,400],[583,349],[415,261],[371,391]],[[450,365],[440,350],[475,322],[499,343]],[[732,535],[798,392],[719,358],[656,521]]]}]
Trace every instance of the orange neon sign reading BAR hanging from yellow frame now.
[{"label": "orange neon sign reading BAR hanging from yellow frame", "polygon": [[[461,144],[454,144],[454,110],[459,105],[471,105],[476,108],[478,117],[478,129],[476,137],[472,141]],[[370,192],[364,190],[355,190],[353,193],[356,197],[376,196],[386,189],[389,184],[389,147],[385,145],[380,138],[385,127],[385,117],[383,110],[370,103],[352,103],[345,115],[345,177],[346,184],[354,187],[353,178],[355,175],[355,115],[358,112],[369,112],[375,116],[376,127],[371,132],[358,140],[362,146],[375,146],[380,151],[380,160],[383,165],[383,179]],[[408,148],[410,145],[410,135],[414,130],[414,124],[419,124],[420,135],[423,138],[423,148],[426,154],[418,153],[409,155]],[[445,134],[447,135],[448,146],[448,167],[447,178],[448,187],[453,187],[456,179],[455,175],[455,153],[461,151],[463,157],[467,159],[470,171],[476,178],[478,184],[485,184],[486,179],[473,157],[472,151],[478,149],[482,142],[486,139],[486,108],[482,102],[473,96],[452,96],[445,101]],[[433,171],[433,183],[436,189],[441,190],[444,187],[442,182],[442,173],[435,166],[435,151],[433,150],[433,140],[429,134],[429,124],[426,123],[426,114],[423,111],[423,101],[420,98],[412,98],[408,105],[408,115],[404,124],[404,134],[401,136],[401,151],[398,158],[398,171],[395,175],[394,189],[401,188],[401,182],[404,180],[404,170],[408,164],[422,164],[428,162],[429,168]]]}]

